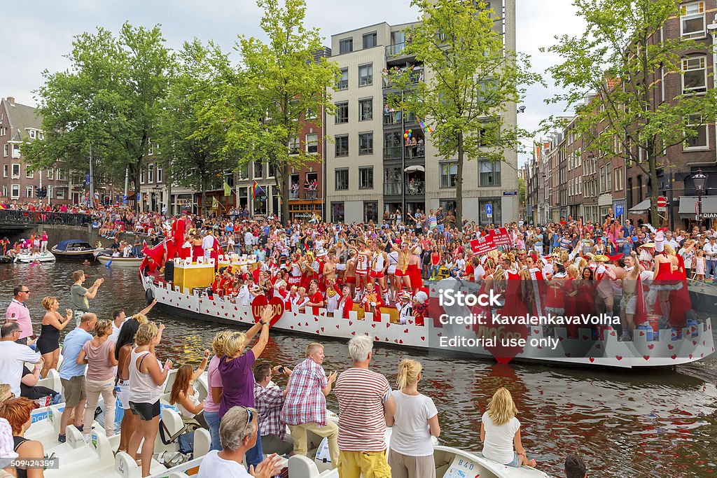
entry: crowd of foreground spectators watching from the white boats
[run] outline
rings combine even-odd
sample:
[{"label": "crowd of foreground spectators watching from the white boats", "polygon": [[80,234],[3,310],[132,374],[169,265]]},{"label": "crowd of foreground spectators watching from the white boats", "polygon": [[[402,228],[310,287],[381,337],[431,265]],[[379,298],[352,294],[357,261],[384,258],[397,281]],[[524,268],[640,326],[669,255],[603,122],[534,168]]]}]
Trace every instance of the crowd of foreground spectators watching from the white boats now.
[{"label": "crowd of foreground spectators watching from the white boats", "polygon": [[[82,277],[75,275],[73,298],[85,290],[80,297],[86,306],[101,282],[87,290]],[[44,455],[42,443],[24,436],[38,406],[33,398],[58,393],[32,390],[32,382],[57,367],[59,332],[76,322],[73,310],[62,315],[57,298],[45,297],[47,313],[33,350],[28,346],[34,342],[32,321],[28,330],[29,312],[24,306],[31,290],[20,285],[14,292],[0,328],[0,458],[22,463]],[[171,360],[162,363],[157,356],[163,325],[148,320],[153,305],[130,317],[117,310],[113,320],[82,312],[79,323],[65,336],[59,367],[65,408],[57,441],[65,441],[69,424],[90,439],[100,397],[104,433],[113,436],[116,393],[124,411],[118,451],[137,460],[142,476],[151,474],[160,395],[174,368]],[[185,423],[205,427],[211,436],[211,451],[201,461],[199,478],[274,477],[281,472],[280,455],[308,453],[309,432],[328,439],[328,456],[339,477],[435,477],[432,437],[440,436],[440,423],[432,398],[419,392],[422,365],[417,360],[399,363],[395,390],[385,376],[371,370],[373,340],[363,335],[348,343],[353,366],[340,374],[324,370],[320,343],[308,345],[305,359],[292,368],[272,364],[260,360],[269,340],[271,316],[271,308],[265,307],[260,321],[246,332],[217,333],[213,353],[206,350],[198,368],[181,365],[174,371],[169,404]],[[35,364],[32,373],[24,369],[26,363]],[[209,393],[200,402],[194,384],[205,370]],[[284,388],[275,386],[274,381],[280,380],[285,381]],[[331,392],[338,398],[338,421],[326,409]],[[517,414],[511,393],[498,388],[481,419],[483,457],[509,467],[535,466],[521,442]],[[392,427],[389,444],[386,426]],[[2,476],[44,476],[42,467],[3,466]],[[566,476],[586,476],[579,457],[566,459]]]}]

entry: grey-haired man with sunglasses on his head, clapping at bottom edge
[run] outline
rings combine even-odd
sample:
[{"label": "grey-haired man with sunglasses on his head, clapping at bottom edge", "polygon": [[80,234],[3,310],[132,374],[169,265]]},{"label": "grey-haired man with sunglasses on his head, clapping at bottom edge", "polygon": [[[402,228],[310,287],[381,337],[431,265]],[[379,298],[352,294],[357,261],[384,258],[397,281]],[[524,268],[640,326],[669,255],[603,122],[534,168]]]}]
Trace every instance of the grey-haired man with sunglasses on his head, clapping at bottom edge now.
[{"label": "grey-haired man with sunglasses on his head, clapping at bottom edge", "polygon": [[222,424],[219,425],[219,441],[222,451],[212,450],[201,460],[197,478],[270,478],[281,471],[280,457],[276,454],[264,459],[257,467],[249,467],[249,472],[242,462],[247,451],[257,443],[257,417],[255,408],[233,406],[229,408]]}]

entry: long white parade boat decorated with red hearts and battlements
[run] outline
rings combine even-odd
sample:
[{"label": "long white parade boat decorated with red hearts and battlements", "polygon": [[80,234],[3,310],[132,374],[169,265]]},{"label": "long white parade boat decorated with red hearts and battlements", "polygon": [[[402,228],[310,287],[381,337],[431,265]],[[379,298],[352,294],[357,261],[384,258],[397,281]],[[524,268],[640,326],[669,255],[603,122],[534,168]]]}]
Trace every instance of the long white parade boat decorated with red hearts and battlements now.
[{"label": "long white parade boat decorated with red hearts and battlements", "polygon": [[[243,262],[242,262],[243,261]],[[256,267],[249,257],[219,257],[219,267]],[[254,259],[255,261],[255,259]],[[214,259],[174,259],[171,280],[159,271],[141,269],[146,299],[157,300],[166,310],[194,320],[248,328],[260,315],[261,305],[255,307],[237,303],[235,297],[219,297],[207,292],[214,280]],[[620,342],[611,327],[579,328],[569,335],[566,327],[509,325],[478,325],[458,322],[444,323],[446,317],[472,317],[475,309],[465,305],[441,305],[440,295],[446,291],[475,292],[472,282],[443,279],[429,286],[428,314],[420,324],[397,320],[393,307],[382,307],[372,314],[351,310],[348,318],[323,307],[306,307],[300,312],[295,306],[286,308],[280,299],[267,300],[263,305],[275,307],[272,330],[303,335],[347,340],[355,335],[373,337],[377,345],[413,348],[443,353],[459,353],[480,358],[495,358],[500,362],[520,360],[556,365],[604,366],[614,368],[652,368],[680,365],[701,360],[714,352],[711,320],[688,322],[675,329],[662,322],[650,322],[650,330],[635,330],[634,340]],[[510,302],[508,298],[508,302]],[[659,324],[659,325],[658,325]],[[657,329],[657,330],[655,330]],[[486,343],[485,338],[502,338],[520,333],[526,345],[500,348]],[[480,339],[480,340],[479,340]]]}]

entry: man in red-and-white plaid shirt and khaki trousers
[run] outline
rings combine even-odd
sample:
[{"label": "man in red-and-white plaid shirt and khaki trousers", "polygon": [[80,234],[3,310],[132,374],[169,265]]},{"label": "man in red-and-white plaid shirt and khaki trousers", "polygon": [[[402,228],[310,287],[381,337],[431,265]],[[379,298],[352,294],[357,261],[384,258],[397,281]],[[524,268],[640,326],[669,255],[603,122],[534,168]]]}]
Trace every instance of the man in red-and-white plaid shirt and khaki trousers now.
[{"label": "man in red-and-white plaid shirt and khaki trousers", "polygon": [[336,381],[336,372],[326,376],[323,371],[323,345],[311,343],[306,360],[296,365],[289,376],[281,419],[289,426],[294,440],[294,453],[306,456],[306,432],[328,437],[331,467],[338,465],[338,426],[326,419],[326,396]]}]

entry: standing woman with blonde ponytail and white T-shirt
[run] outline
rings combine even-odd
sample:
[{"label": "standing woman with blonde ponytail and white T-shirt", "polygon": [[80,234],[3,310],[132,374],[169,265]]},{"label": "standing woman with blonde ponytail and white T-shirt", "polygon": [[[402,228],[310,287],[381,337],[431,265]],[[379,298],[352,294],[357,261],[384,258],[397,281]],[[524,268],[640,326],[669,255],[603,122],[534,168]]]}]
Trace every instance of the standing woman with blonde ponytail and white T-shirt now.
[{"label": "standing woman with blonde ponytail and white T-shirt", "polygon": [[391,395],[396,411],[386,416],[393,426],[389,444],[391,478],[435,478],[431,436],[440,436],[438,411],[431,398],[418,392],[422,365],[417,360],[399,363],[397,387]]}]

